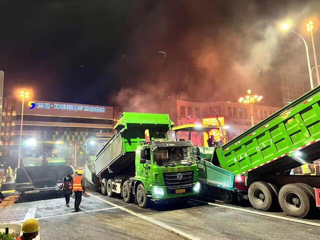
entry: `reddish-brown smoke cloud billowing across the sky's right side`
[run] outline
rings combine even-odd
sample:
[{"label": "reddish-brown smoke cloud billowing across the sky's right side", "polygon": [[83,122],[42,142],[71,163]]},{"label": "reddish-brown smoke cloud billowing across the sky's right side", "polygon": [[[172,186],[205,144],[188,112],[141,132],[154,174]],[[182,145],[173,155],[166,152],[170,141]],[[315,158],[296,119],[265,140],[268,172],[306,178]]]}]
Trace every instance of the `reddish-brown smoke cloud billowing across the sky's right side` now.
[{"label": "reddish-brown smoke cloud billowing across the sky's right side", "polygon": [[259,73],[271,71],[281,55],[279,22],[293,16],[299,23],[318,4],[161,1],[144,8],[149,14],[137,20],[118,61],[122,88],[113,100],[157,112],[160,99],[182,92],[196,101],[236,101],[247,88],[264,94]]}]

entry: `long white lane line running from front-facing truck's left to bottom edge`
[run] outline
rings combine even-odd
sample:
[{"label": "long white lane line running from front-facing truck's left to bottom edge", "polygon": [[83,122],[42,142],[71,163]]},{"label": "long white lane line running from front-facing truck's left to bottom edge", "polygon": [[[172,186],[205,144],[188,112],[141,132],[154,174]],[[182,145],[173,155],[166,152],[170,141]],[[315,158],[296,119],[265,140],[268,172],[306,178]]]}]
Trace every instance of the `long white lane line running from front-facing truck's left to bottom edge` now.
[{"label": "long white lane line running from front-facing truck's left to bottom edge", "polygon": [[177,235],[179,235],[179,236],[182,236],[182,237],[184,237],[184,238],[186,238],[186,239],[189,239],[189,240],[199,240],[199,238],[197,238],[197,237],[194,237],[194,236],[192,236],[192,235],[189,235],[189,234],[187,234],[187,233],[185,233],[185,232],[183,232],[183,231],[180,231],[180,230],[178,230],[178,229],[176,229],[176,228],[174,228],[174,227],[168,226],[167,224],[164,224],[164,223],[162,223],[162,222],[160,222],[160,221],[154,220],[154,219],[152,219],[152,218],[150,218],[150,217],[147,217],[147,216],[145,216],[145,215],[142,215],[142,214],[140,214],[140,213],[137,213],[137,212],[135,212],[135,211],[132,211],[132,210],[130,210],[130,209],[127,209],[127,208],[125,208],[125,207],[122,207],[122,206],[119,206],[119,205],[117,205],[117,204],[114,204],[114,203],[112,203],[112,202],[110,202],[110,201],[107,201],[107,200],[103,199],[102,197],[93,195],[93,194],[91,194],[91,193],[89,193],[89,192],[87,192],[87,193],[88,193],[89,195],[93,196],[93,197],[96,197],[96,198],[100,199],[101,201],[104,201],[104,202],[106,202],[106,203],[108,203],[108,204],[110,204],[110,205],[112,205],[112,206],[115,206],[115,207],[117,207],[117,208],[119,208],[119,209],[121,209],[121,210],[123,210],[123,211],[126,211],[126,212],[128,212],[128,213],[130,213],[130,214],[132,214],[132,215],[134,215],[134,216],[137,216],[137,217],[139,217],[139,218],[141,218],[141,219],[143,219],[143,220],[146,220],[146,221],[148,221],[148,222],[150,222],[150,223],[152,223],[152,224],[155,224],[155,225],[157,225],[157,226],[160,226],[160,227],[162,227],[162,228],[165,228],[166,230],[168,230],[168,231],[170,231],[170,232],[173,232],[173,233],[175,233],[175,234],[177,234]]}]

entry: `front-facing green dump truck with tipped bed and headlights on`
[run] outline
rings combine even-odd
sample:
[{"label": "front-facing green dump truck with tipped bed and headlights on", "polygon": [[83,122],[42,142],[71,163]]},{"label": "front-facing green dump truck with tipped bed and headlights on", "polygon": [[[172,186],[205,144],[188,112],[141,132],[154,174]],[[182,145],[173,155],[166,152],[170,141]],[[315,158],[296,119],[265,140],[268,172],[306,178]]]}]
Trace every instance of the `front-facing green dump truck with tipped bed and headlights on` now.
[{"label": "front-facing green dump truck with tipped bed and headlights on", "polygon": [[94,166],[86,166],[86,180],[142,208],[193,197],[200,188],[193,145],[169,141],[172,126],[168,114],[123,113]]}]

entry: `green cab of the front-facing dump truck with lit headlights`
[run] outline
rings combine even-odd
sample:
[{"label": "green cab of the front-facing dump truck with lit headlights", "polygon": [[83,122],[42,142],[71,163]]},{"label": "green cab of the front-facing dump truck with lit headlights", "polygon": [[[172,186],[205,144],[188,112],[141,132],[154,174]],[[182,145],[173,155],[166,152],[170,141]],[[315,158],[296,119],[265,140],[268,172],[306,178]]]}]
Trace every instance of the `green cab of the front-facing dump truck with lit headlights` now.
[{"label": "green cab of the front-facing dump truck with lit headlights", "polygon": [[152,141],[136,151],[135,180],[154,202],[188,199],[199,191],[191,141]]}]

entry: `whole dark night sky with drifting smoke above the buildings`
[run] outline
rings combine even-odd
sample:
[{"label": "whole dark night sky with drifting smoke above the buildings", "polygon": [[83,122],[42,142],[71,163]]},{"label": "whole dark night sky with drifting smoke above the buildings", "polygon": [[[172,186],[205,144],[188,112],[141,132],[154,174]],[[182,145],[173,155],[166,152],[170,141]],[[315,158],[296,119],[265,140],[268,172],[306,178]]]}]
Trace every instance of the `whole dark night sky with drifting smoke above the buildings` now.
[{"label": "whole dark night sky with drifting smoke above the buildings", "polygon": [[258,73],[272,71],[282,42],[307,71],[303,46],[278,25],[293,19],[309,40],[304,21],[318,24],[318,2],[1,0],[4,95],[30,87],[38,100],[138,109],[182,92],[211,101],[267,91]]}]

